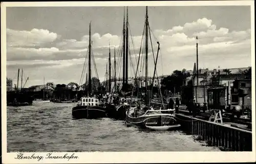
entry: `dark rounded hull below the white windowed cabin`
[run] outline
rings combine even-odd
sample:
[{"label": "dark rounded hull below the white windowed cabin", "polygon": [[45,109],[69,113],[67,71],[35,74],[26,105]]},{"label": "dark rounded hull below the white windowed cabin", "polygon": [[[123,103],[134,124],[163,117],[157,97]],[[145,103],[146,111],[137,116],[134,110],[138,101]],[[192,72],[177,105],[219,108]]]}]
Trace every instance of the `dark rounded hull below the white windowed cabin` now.
[{"label": "dark rounded hull below the white windowed cabin", "polygon": [[72,108],[75,119],[98,119],[106,117],[106,110],[101,106],[76,106]]}]

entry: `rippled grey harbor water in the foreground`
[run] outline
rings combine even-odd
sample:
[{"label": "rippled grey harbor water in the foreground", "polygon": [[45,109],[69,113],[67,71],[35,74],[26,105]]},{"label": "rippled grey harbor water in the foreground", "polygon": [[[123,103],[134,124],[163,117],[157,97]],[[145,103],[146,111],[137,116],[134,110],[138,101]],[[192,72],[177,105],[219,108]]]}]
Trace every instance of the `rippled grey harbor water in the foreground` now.
[{"label": "rippled grey harbor water in the foreground", "polygon": [[140,130],[109,118],[74,120],[73,105],[51,102],[8,106],[7,151],[221,151],[181,130]]}]

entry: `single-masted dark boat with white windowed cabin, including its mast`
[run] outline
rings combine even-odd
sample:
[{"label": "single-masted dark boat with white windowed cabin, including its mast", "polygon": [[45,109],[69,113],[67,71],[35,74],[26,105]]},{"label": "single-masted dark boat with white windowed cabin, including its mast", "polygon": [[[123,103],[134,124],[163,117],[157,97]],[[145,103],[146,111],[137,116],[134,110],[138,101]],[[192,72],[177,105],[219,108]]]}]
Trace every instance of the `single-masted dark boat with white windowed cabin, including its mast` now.
[{"label": "single-masted dark boat with white windowed cabin, including its mast", "polygon": [[72,108],[72,116],[75,119],[97,119],[97,118],[104,118],[106,116],[105,105],[101,101],[99,101],[99,99],[97,99],[96,97],[90,97],[90,95],[92,95],[91,57],[93,57],[91,49],[92,49],[92,45],[91,45],[91,22],[90,22],[89,53],[88,53],[89,55],[88,97],[85,97],[85,96],[81,97],[80,100],[77,103],[75,103],[75,106]]}]

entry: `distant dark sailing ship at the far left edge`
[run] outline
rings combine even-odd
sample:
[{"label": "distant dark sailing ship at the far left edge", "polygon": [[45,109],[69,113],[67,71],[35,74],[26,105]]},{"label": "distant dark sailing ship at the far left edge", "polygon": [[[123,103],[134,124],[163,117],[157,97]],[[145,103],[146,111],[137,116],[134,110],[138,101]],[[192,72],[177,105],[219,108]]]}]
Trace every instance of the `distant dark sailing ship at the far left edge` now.
[{"label": "distant dark sailing ship at the far left edge", "polygon": [[[7,106],[27,106],[32,105],[33,98],[29,95],[27,91],[24,91],[23,88],[25,87],[27,81],[29,78],[26,79],[26,82],[23,85],[23,69],[22,69],[22,75],[21,75],[21,83],[19,88],[19,68],[18,68],[18,77],[17,77],[17,85],[15,86],[15,89],[7,91]],[[12,87],[12,86],[11,86]]]}]

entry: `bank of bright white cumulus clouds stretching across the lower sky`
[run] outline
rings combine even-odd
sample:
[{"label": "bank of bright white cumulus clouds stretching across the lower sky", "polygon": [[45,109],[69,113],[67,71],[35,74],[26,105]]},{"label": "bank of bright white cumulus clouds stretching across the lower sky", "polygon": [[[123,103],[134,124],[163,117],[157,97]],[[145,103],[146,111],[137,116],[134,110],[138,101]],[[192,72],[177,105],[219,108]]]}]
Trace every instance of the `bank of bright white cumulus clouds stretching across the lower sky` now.
[{"label": "bank of bright white cumulus clouds stretching across the lower sky", "polygon": [[[154,30],[154,35],[160,42],[159,57],[161,60],[159,60],[158,69],[161,70],[161,65],[163,65],[163,74],[171,74],[173,69],[193,68],[196,60],[196,36],[199,38],[200,61],[208,65],[207,67],[225,65],[227,60],[231,61],[232,59],[233,61],[233,58],[243,59],[244,63],[250,64],[248,62],[251,50],[250,29],[230,31],[225,27],[217,27],[211,19],[201,18],[167,30]],[[103,70],[105,70],[105,64],[109,57],[109,44],[111,45],[112,60],[114,47],[116,47],[116,57],[121,57],[121,38],[121,36],[109,33],[104,35],[92,34],[92,48],[99,76],[104,76]],[[154,38],[152,35],[152,44],[156,54],[158,45]],[[132,60],[135,63],[140,51],[142,36],[130,37],[129,41]],[[52,43],[52,46],[44,46],[49,43]],[[24,63],[20,64],[25,66],[27,63],[29,68],[40,65],[56,69],[69,67],[75,70],[76,65],[79,64],[81,66],[83,64],[88,44],[88,35],[81,36],[78,40],[72,38],[58,40],[58,35],[48,30],[15,31],[8,29],[7,63],[24,61]],[[148,49],[150,53],[151,42],[148,44],[150,46]],[[28,45],[33,47],[26,47]],[[142,46],[144,46],[144,41],[142,41]],[[141,53],[145,53],[145,50],[141,51]],[[152,58],[152,55],[150,55],[150,58]],[[152,60],[151,64],[153,64]],[[8,68],[13,66],[15,64],[8,65]]]}]

